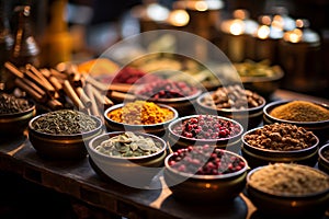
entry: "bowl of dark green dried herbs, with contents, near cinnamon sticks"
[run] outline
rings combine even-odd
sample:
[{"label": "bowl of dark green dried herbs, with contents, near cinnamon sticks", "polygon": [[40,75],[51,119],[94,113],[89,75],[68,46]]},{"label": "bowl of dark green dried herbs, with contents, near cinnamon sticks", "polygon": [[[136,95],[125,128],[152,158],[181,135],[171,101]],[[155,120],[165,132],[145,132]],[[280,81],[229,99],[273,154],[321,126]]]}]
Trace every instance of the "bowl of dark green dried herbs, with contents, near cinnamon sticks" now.
[{"label": "bowl of dark green dried herbs, with contents, near cinnamon sticks", "polygon": [[97,116],[79,111],[59,110],[38,115],[29,123],[29,138],[46,159],[83,159],[86,145],[103,130]]}]

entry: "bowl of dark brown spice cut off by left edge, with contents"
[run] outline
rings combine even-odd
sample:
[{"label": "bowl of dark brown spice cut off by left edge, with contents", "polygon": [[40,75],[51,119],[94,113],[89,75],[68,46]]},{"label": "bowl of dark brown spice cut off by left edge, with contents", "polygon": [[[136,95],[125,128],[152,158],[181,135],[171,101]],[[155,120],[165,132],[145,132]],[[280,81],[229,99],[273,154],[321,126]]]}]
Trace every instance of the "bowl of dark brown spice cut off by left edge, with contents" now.
[{"label": "bowl of dark brown spice cut off by left edge, with contents", "polygon": [[22,135],[35,114],[32,101],[0,93],[0,138]]}]

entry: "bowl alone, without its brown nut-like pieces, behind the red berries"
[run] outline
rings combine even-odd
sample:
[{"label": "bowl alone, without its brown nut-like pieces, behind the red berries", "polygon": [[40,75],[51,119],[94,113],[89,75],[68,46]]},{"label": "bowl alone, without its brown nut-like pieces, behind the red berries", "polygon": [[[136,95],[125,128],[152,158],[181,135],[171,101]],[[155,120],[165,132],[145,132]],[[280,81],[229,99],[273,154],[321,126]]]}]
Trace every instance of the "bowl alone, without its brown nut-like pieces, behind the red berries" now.
[{"label": "bowl alone, without its brown nut-like pieces, behind the red berries", "polygon": [[206,96],[212,95],[212,93],[214,92],[204,93],[201,96],[198,96],[196,100],[196,103],[200,106],[200,112],[202,114],[218,115],[218,116],[224,116],[227,118],[235,119],[239,122],[241,125],[243,125],[243,127],[246,127],[246,130],[256,128],[261,124],[263,118],[263,107],[266,104],[264,97],[260,96],[262,104],[252,108],[245,108],[245,110],[213,108],[203,103],[203,100]]}]

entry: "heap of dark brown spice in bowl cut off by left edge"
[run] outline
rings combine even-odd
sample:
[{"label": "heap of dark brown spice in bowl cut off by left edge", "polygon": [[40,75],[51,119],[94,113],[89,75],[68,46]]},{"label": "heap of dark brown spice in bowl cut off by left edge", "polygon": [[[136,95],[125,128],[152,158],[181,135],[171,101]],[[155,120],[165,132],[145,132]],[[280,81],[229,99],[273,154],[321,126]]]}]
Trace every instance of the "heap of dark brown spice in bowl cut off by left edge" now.
[{"label": "heap of dark brown spice in bowl cut off by left edge", "polygon": [[18,99],[12,94],[0,93],[0,115],[21,113],[31,108],[25,99]]}]

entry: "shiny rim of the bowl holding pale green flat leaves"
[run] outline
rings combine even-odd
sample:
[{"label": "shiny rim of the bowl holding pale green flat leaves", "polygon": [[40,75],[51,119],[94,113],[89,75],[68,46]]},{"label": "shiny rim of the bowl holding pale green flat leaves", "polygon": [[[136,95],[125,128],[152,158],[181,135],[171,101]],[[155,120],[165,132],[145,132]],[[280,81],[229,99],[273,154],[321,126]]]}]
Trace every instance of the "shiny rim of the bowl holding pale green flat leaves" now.
[{"label": "shiny rim of the bowl holding pale green flat leaves", "polygon": [[[134,132],[134,134],[137,135],[137,136],[144,136],[144,137],[147,136],[147,137],[150,137],[150,138],[152,138],[152,139],[157,139],[157,140],[158,140],[159,142],[161,142],[161,145],[162,145],[161,150],[159,150],[159,151],[157,151],[157,152],[155,152],[155,153],[151,153],[151,154],[149,154],[149,155],[139,155],[139,157],[115,157],[115,155],[106,155],[106,154],[104,154],[104,153],[101,153],[101,152],[99,152],[98,150],[95,150],[95,148],[93,147],[94,141],[97,141],[97,140],[99,140],[99,139],[105,137],[105,136],[109,136],[109,137],[110,137],[110,135],[115,135],[115,136],[117,136],[117,135],[124,134],[124,132],[126,132],[126,131],[111,131],[111,132],[105,132],[105,134],[99,135],[99,136],[92,138],[92,139],[89,141],[88,147],[89,147],[90,150],[92,150],[92,151],[93,151],[94,153],[97,153],[98,155],[101,155],[101,157],[106,158],[106,159],[110,158],[110,159],[115,159],[115,160],[132,160],[132,161],[133,161],[133,160],[140,160],[140,159],[152,158],[152,157],[155,157],[155,155],[158,155],[158,154],[162,153],[162,152],[167,149],[167,143],[164,142],[163,139],[159,138],[158,136],[151,135],[151,134],[145,134],[145,132],[139,132],[139,131],[132,131],[132,132]],[[109,138],[109,139],[110,139],[110,138]],[[106,139],[106,140],[107,140],[107,139]]]}]

